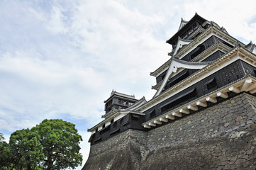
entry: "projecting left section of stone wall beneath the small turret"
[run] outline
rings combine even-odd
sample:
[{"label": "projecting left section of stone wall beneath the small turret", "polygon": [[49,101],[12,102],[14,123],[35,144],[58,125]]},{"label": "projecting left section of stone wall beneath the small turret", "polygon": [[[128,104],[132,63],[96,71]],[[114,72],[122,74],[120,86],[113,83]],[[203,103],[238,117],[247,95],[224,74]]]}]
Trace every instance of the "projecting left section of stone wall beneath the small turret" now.
[{"label": "projecting left section of stone wall beneath the small turret", "polygon": [[91,145],[85,169],[140,169],[142,157],[147,154],[147,132],[127,130],[119,135]]}]

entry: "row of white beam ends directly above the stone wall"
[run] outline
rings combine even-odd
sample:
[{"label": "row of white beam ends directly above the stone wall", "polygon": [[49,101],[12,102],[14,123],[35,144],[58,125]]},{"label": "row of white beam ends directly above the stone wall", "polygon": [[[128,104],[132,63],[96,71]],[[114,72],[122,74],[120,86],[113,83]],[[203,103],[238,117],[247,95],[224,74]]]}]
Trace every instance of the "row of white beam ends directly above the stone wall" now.
[{"label": "row of white beam ends directly above the stone wall", "polygon": [[217,98],[228,98],[228,93],[232,91],[236,94],[240,92],[247,91],[250,94],[256,93],[256,79],[255,77],[244,77],[233,84],[228,84],[222,89],[211,92],[201,98],[196,98],[196,100],[175,108],[172,111],[164,113],[157,118],[149,120],[148,122],[143,123],[144,128],[152,128],[157,125],[161,125],[162,122],[166,122],[166,119],[174,120],[175,117],[182,117],[182,113],[189,114],[190,111],[198,111],[198,106],[207,107],[207,102],[216,103]]}]

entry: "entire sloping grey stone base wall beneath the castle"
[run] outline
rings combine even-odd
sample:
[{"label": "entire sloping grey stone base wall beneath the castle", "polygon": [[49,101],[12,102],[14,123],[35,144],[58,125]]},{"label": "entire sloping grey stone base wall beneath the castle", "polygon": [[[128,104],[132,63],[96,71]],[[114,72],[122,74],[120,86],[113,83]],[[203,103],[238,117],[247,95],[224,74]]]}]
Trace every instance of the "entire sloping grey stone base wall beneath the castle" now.
[{"label": "entire sloping grey stone base wall beneath the castle", "polygon": [[240,94],[148,132],[91,146],[83,169],[256,169],[256,98]]}]

